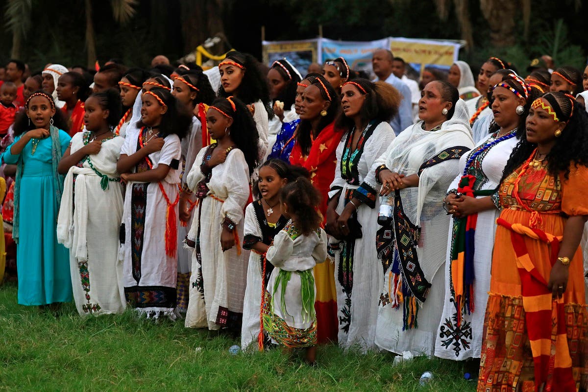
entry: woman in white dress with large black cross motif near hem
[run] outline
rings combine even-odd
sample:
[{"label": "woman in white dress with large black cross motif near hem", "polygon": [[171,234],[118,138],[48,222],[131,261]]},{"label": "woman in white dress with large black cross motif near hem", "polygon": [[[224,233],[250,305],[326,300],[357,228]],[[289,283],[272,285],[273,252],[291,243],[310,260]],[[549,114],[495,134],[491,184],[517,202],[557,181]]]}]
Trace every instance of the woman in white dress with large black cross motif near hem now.
[{"label": "woman in white dress with large black cross motif near hem", "polygon": [[490,102],[496,116],[486,132],[489,136],[462,156],[460,174],[449,186],[445,207],[452,218],[445,264],[445,303],[435,343],[437,357],[480,357],[499,215],[497,188],[510,153],[524,137],[524,121],[533,102],[530,93],[514,74],[493,87]]}]

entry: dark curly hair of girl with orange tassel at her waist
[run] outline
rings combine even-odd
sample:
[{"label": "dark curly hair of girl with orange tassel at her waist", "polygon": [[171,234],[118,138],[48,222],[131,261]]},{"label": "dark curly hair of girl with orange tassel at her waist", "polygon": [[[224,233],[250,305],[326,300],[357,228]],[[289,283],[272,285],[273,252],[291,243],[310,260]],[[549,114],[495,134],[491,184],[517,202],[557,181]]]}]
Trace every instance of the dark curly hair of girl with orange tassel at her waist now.
[{"label": "dark curly hair of girl with orange tassel at her waist", "polygon": [[[166,89],[154,88],[149,92],[158,96],[168,107],[168,110],[161,116],[161,123],[159,124],[159,133],[162,138],[169,135],[178,135],[180,139],[185,138],[192,124],[192,113]],[[145,94],[143,93],[143,95]],[[146,125],[142,120],[139,120],[137,126],[142,128]]]}]

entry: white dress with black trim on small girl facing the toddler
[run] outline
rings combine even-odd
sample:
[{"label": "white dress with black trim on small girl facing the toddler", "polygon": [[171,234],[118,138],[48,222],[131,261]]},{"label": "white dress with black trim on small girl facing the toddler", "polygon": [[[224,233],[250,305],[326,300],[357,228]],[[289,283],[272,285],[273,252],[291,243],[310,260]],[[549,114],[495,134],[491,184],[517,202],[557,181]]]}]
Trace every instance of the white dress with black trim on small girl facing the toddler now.
[{"label": "white dress with black trim on small girl facing the toddler", "polygon": [[243,325],[241,327],[241,347],[245,350],[252,341],[256,341],[261,330],[261,297],[268,286],[273,271],[273,264],[265,260],[263,254],[252,250],[260,242],[272,244],[273,237],[282,230],[288,219],[280,216],[278,222],[269,223],[266,210],[261,200],[255,200],[245,209],[245,226],[243,227],[243,249],[251,250],[247,268],[247,287],[243,302]]}]

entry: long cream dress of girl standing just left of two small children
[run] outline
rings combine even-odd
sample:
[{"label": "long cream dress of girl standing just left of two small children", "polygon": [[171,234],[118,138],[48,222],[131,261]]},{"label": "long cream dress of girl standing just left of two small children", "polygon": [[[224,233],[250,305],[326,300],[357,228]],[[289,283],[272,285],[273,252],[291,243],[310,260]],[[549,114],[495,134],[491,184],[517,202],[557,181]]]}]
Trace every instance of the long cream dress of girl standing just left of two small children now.
[{"label": "long cream dress of girl standing just left of two small children", "polygon": [[[225,162],[210,168],[206,163],[215,148],[200,151],[187,179],[199,203],[186,238],[194,249],[186,327],[240,329],[249,252],[240,249],[239,239],[250,194],[249,169],[239,149],[229,149]],[[222,225],[236,234],[235,246],[225,252]]]}]

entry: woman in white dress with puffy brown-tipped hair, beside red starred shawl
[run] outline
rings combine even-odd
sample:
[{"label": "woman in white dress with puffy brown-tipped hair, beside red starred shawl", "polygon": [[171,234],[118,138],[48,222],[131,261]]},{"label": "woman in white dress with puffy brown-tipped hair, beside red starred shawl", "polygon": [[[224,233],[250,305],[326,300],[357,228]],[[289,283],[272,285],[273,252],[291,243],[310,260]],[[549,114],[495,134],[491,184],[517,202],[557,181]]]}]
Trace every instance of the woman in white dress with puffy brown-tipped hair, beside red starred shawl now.
[{"label": "woman in white dress with puffy brown-tipped hair, beside red starred shawl", "polygon": [[335,252],[339,346],[358,345],[365,352],[375,348],[383,284],[374,246],[380,203],[370,170],[395,138],[389,121],[398,112],[400,95],[388,83],[366,79],[343,84],[341,93],[343,112],[336,126],[346,132],[336,152],[326,231],[333,236],[329,246]]}]

